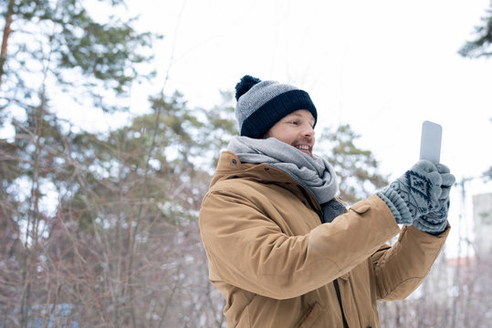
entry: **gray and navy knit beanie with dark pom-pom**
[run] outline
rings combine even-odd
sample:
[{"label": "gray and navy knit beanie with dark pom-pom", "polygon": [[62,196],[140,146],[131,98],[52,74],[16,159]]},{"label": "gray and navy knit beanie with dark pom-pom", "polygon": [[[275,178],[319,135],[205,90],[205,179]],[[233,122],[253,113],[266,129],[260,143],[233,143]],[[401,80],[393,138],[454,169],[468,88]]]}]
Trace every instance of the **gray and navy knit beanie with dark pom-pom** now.
[{"label": "gray and navy knit beanie with dark pom-pom", "polygon": [[[241,136],[262,138],[281,118],[298,110],[318,114],[309,94],[276,81],[244,76],[236,85],[236,118]],[[313,127],[314,128],[314,127]]]}]

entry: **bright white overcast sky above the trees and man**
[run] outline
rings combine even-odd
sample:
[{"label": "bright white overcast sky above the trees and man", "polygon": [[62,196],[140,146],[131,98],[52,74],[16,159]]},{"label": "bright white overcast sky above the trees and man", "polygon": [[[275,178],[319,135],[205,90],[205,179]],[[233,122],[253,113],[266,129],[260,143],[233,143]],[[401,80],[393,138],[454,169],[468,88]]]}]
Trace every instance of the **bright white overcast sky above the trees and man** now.
[{"label": "bright white overcast sky above the trees and man", "polygon": [[[441,161],[457,179],[492,165],[492,58],[457,54],[488,0],[132,3],[141,28],[164,35],[155,47],[162,73],[155,90],[169,73],[168,92],[180,90],[192,107],[212,108],[219,90],[249,74],[308,91],[318,129],[351,124],[359,145],[393,178],[418,159],[424,119],[443,126]],[[145,108],[134,90],[132,108]],[[492,192],[492,183],[480,180],[467,186],[469,195]],[[455,190],[452,225],[462,209],[471,215],[470,202],[462,207]],[[465,225],[461,235],[473,235],[473,225]]]}]

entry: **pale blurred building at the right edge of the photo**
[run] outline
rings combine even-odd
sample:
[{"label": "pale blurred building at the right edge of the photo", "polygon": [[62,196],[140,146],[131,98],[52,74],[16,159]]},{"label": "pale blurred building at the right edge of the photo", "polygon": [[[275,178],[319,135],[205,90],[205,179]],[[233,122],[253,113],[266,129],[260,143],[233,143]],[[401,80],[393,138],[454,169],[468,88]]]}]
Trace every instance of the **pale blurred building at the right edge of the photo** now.
[{"label": "pale blurred building at the right edge of the photo", "polygon": [[473,196],[475,251],[477,256],[492,255],[492,192]]}]

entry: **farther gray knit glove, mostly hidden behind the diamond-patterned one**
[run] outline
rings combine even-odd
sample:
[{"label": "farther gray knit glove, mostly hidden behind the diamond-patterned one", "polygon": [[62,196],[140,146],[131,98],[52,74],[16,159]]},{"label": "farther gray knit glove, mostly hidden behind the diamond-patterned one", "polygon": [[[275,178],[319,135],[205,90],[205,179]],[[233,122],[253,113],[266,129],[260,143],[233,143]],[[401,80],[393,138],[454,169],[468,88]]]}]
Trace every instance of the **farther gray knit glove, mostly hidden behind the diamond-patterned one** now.
[{"label": "farther gray knit glove, mostly hidden behind the diamond-patterned one", "polygon": [[447,212],[449,210],[449,191],[455,183],[455,176],[443,164],[437,164],[437,171],[443,179],[441,196],[439,197],[439,208],[431,211],[413,221],[413,226],[420,231],[439,234],[447,227]]}]

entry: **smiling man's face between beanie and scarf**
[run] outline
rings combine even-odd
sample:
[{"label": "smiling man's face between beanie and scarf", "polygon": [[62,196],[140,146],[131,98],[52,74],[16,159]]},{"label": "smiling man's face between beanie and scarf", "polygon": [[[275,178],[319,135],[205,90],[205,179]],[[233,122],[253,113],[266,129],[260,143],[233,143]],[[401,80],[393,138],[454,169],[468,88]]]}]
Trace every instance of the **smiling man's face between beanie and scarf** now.
[{"label": "smiling man's face between beanie and scarf", "polygon": [[309,110],[299,109],[280,119],[263,138],[277,138],[312,157],[315,122]]}]

